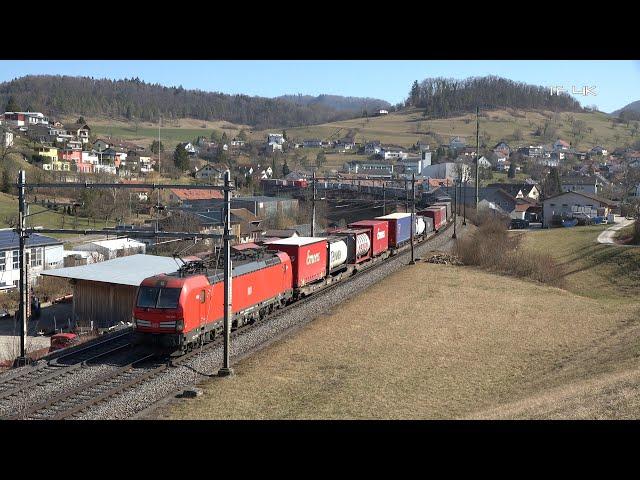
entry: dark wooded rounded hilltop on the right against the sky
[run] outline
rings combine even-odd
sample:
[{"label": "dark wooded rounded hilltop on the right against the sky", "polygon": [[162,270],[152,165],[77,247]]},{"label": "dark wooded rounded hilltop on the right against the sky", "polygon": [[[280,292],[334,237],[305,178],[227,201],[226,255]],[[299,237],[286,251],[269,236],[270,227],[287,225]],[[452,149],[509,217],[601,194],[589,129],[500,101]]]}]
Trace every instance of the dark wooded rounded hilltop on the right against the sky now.
[{"label": "dark wooded rounded hilltop on the right against the sky", "polygon": [[563,93],[552,95],[548,87],[488,76],[465,80],[427,78],[413,83],[407,103],[424,108],[427,117],[450,117],[481,109],[522,109],[578,112],[580,103]]}]

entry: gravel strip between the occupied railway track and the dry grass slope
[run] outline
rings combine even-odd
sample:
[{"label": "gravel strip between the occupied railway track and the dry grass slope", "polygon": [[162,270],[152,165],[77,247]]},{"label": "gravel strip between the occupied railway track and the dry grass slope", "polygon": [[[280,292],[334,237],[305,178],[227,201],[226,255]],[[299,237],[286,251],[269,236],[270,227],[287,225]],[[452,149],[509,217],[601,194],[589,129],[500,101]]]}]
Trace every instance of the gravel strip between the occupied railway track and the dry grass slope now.
[{"label": "gravel strip between the occupied railway track and the dry grass slope", "polygon": [[[458,232],[464,227],[458,222]],[[447,229],[434,239],[416,247],[416,257],[431,250],[446,251],[452,245],[453,228]],[[265,320],[244,330],[231,345],[231,356],[238,361],[253,351],[264,348],[269,343],[304,326],[314,318],[328,312],[344,300],[357,295],[386,276],[407,265],[410,254],[402,254],[392,258],[385,264],[376,267],[365,275],[355,277],[336,288],[311,297],[309,301],[283,312],[281,315]],[[77,415],[78,419],[128,419],[150,413],[154,404],[168,397],[175,396],[185,388],[192,387],[207,377],[215,376],[222,362],[222,346],[218,345],[202,351],[184,364],[169,368],[158,376],[113,397],[90,410]]]}]

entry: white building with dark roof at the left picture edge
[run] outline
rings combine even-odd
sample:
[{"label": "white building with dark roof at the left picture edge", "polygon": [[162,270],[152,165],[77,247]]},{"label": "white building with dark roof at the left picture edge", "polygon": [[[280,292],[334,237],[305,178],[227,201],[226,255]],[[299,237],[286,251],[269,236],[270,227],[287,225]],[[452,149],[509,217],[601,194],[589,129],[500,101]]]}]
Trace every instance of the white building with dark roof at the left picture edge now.
[{"label": "white building with dark roof at the left picture edge", "polygon": [[[33,233],[27,238],[26,248],[28,275],[32,285],[38,282],[42,271],[62,266],[64,246],[60,240]],[[2,229],[0,230],[0,290],[16,288],[19,282],[18,235],[10,228]]]}]

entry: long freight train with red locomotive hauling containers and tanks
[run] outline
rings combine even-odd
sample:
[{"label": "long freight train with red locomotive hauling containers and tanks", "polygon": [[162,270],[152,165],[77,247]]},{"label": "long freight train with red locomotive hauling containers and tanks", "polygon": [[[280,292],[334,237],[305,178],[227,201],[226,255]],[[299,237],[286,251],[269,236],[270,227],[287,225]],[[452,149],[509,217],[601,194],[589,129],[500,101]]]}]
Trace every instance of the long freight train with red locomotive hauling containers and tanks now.
[{"label": "long freight train with red locomotive hauling containers and tanks", "polygon": [[[446,206],[394,213],[329,229],[324,237],[265,239],[232,256],[232,328],[343,281],[406,250],[448,223]],[[219,267],[219,266],[218,266]],[[180,355],[223,331],[224,274],[203,262],[145,279],[133,310],[136,343]]]}]

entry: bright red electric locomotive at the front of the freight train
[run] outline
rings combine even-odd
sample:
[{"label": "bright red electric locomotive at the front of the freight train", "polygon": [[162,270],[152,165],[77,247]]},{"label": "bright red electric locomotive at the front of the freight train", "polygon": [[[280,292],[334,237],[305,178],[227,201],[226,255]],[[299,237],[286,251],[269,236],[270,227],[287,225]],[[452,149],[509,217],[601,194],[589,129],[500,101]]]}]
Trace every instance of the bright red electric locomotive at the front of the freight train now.
[{"label": "bright red electric locomotive at the front of the freight train", "polygon": [[[219,269],[207,275],[187,264],[174,274],[143,280],[133,310],[138,343],[184,352],[200,339],[213,339],[224,328],[223,276]],[[231,291],[236,328],[285,305],[293,296],[289,255],[236,259]]]}]

